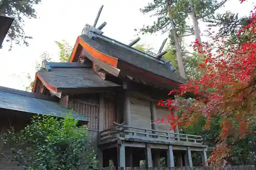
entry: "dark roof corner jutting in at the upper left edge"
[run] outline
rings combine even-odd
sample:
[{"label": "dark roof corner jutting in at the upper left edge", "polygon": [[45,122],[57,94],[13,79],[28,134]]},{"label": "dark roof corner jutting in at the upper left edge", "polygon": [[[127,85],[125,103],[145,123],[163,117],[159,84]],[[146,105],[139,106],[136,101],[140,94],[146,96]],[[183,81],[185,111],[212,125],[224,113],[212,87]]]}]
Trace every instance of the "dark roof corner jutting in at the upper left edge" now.
[{"label": "dark roof corner jutting in at the upper left edge", "polygon": [[2,45],[9,28],[11,27],[13,18],[0,15],[0,46]]}]

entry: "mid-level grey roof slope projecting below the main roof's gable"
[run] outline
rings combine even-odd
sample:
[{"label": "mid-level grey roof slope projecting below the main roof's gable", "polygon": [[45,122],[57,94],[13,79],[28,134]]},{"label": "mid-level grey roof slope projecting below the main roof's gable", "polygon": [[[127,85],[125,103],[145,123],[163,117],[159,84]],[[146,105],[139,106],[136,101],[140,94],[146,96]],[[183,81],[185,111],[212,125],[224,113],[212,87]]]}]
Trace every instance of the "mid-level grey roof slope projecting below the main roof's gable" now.
[{"label": "mid-level grey roof slope projecting below the main roof's gable", "polygon": [[47,84],[57,89],[120,86],[113,82],[103,80],[93,68],[53,67],[51,71],[40,69],[37,75]]}]

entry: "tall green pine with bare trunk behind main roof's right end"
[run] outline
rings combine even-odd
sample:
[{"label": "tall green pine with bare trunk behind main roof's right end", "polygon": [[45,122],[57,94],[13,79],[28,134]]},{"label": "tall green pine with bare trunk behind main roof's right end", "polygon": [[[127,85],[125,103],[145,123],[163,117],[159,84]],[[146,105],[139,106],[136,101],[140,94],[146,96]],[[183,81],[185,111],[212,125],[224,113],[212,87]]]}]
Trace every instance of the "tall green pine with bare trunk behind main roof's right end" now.
[{"label": "tall green pine with bare trunk behind main roof's right end", "polygon": [[[179,66],[180,76],[185,78],[186,66],[184,57],[182,57],[182,37],[196,35],[201,43],[200,30],[198,20],[215,13],[217,9],[222,7],[227,0],[218,3],[217,1],[202,1],[202,0],[157,0],[153,3],[148,3],[143,9],[142,13],[151,13],[157,16],[157,21],[153,22],[152,26],[144,26],[140,29],[142,34],[170,32],[169,38],[171,45],[175,45],[176,49],[176,62]],[[167,14],[167,15],[166,15]],[[191,15],[193,19],[193,27],[187,25],[186,19]],[[171,27],[169,27],[171,26]],[[184,52],[183,52],[184,53]],[[202,56],[197,56],[201,60]],[[194,59],[195,57],[193,57]],[[191,57],[190,57],[191,60]],[[199,61],[200,62],[200,61]]]}]

